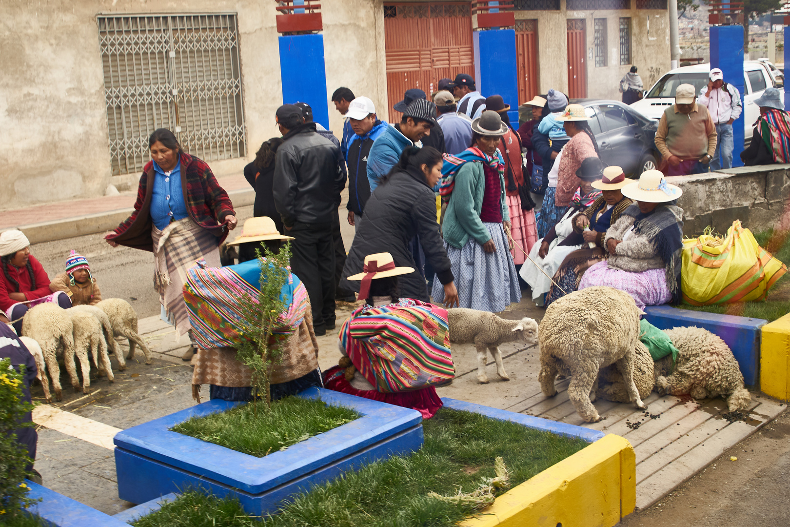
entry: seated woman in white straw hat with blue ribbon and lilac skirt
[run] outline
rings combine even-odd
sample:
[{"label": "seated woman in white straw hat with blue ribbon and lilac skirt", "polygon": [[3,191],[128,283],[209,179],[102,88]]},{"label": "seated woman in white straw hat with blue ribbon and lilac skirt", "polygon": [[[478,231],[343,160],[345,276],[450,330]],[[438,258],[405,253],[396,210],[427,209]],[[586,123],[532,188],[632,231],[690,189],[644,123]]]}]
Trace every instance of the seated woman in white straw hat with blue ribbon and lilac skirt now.
[{"label": "seated woman in white straw hat with blue ribbon and lilac skirt", "polygon": [[621,289],[640,308],[679,303],[683,209],[675,202],[683,191],[667,183],[660,171],[648,170],[621,192],[636,203],[607,231],[604,245],[609,258],[587,269],[579,289],[594,285]]}]

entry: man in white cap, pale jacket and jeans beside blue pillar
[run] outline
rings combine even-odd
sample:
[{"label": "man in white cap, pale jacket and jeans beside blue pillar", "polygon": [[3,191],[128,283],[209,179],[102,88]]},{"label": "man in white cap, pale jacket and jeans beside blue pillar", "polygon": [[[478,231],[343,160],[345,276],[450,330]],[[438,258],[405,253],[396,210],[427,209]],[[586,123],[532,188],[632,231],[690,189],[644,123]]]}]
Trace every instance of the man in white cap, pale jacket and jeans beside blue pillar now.
[{"label": "man in white cap, pale jacket and jeans beside blue pillar", "polygon": [[699,92],[697,103],[708,108],[716,125],[716,151],[713,152],[710,168],[732,168],[732,122],[738,119],[742,111],[738,88],[724,82],[724,73],[719,68],[713,68],[708,85]]}]

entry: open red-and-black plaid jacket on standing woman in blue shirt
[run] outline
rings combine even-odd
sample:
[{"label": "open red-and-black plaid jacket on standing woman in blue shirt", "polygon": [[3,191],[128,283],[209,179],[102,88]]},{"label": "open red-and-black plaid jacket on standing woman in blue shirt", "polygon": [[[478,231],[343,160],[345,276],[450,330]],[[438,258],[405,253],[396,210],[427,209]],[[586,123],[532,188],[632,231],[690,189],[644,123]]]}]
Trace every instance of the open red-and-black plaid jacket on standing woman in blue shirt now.
[{"label": "open red-and-black plaid jacket on standing woman in blue shirt", "polygon": [[[225,216],[235,216],[231,198],[228,198],[228,193],[216,183],[216,178],[208,164],[184,152],[181,153],[179,163],[181,163],[181,189],[186,212],[196,224],[218,238],[218,245],[222,245],[228,236],[228,228],[221,223]],[[121,222],[115,229],[115,234],[105,236],[106,239],[133,249],[153,252],[151,236],[153,223],[149,213],[153,185],[148,185],[148,180],[153,180],[153,177],[153,161],[149,161],[140,176],[134,213]]]}]

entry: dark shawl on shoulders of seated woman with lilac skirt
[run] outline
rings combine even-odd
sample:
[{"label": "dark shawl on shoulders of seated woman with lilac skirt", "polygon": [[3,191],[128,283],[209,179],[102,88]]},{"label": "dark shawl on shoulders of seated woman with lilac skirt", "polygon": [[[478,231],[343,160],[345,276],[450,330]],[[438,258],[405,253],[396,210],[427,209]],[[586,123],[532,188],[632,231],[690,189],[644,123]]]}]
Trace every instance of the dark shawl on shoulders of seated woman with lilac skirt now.
[{"label": "dark shawl on shoulders of seated woman with lilac skirt", "polygon": [[672,303],[680,303],[681,255],[683,254],[683,209],[675,205],[658,205],[652,213],[642,214],[634,203],[621,216],[634,218],[634,232],[653,240],[658,255],[664,261],[667,287],[672,292]]}]

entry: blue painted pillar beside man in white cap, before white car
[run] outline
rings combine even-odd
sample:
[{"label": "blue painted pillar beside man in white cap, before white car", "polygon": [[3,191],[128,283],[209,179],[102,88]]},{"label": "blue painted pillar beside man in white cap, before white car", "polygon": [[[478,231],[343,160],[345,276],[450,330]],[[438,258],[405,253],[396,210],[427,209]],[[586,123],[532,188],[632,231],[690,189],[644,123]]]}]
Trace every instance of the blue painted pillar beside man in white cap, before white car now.
[{"label": "blue painted pillar beside man in white cap, before white car", "polygon": [[743,103],[746,89],[743,85],[743,26],[710,26],[710,67],[720,68],[724,73],[724,81],[738,88],[741,94],[743,111],[732,123],[732,140],[735,145],[732,149],[732,166],[742,167],[740,152],[743,152],[743,127],[746,122],[746,105]]}]

